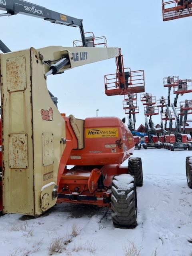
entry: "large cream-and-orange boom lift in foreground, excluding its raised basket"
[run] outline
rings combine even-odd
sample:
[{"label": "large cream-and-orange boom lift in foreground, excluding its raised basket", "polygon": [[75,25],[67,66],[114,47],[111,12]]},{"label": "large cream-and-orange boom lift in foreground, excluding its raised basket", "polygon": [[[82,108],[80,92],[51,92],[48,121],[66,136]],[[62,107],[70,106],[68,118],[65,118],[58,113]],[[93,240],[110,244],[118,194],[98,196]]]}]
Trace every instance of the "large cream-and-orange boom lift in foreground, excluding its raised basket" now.
[{"label": "large cream-and-orange boom lift in foreground, excluding its raised basket", "polygon": [[119,54],[118,48],[61,46],[1,54],[4,213],[38,216],[56,202],[79,202],[111,206],[115,225],[136,226],[128,172],[142,186],[141,159],[120,166],[133,153],[132,134],[118,118],[60,114],[46,87],[51,74]]}]

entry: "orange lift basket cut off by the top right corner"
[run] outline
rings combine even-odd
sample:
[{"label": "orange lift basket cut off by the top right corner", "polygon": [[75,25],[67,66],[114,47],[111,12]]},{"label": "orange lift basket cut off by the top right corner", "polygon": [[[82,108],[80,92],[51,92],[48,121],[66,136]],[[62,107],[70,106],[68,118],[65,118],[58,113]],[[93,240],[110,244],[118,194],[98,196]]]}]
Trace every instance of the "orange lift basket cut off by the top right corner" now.
[{"label": "orange lift basket cut off by the top right corner", "polygon": [[192,0],[162,0],[163,21],[192,16]]}]

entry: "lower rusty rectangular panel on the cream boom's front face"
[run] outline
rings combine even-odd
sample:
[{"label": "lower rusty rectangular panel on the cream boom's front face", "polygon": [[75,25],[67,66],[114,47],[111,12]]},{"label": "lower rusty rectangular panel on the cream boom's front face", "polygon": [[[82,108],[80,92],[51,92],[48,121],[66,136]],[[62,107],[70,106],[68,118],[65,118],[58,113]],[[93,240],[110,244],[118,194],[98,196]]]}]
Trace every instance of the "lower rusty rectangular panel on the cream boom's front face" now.
[{"label": "lower rusty rectangular panel on the cream boom's front face", "polygon": [[10,169],[28,168],[28,136],[26,133],[8,135],[8,162]]}]

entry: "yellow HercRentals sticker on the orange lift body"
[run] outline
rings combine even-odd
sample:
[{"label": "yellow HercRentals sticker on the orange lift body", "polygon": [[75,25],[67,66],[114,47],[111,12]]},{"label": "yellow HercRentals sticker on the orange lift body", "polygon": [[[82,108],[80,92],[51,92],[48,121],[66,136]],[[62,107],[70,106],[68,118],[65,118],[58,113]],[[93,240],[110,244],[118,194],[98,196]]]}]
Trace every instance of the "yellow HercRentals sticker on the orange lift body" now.
[{"label": "yellow HercRentals sticker on the orange lift body", "polygon": [[115,138],[118,137],[118,128],[86,129],[86,138]]}]

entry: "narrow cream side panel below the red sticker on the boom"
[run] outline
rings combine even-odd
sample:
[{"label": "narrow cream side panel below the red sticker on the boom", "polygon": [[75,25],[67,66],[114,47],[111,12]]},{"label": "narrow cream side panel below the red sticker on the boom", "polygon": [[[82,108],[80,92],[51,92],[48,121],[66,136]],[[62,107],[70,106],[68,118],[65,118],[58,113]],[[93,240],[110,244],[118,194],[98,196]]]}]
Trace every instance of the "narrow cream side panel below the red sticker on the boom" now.
[{"label": "narrow cream side panel below the red sticker on the boom", "polygon": [[42,162],[43,166],[54,163],[54,136],[52,132],[42,133]]}]

